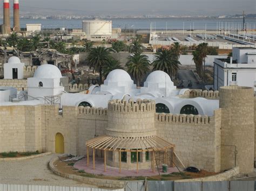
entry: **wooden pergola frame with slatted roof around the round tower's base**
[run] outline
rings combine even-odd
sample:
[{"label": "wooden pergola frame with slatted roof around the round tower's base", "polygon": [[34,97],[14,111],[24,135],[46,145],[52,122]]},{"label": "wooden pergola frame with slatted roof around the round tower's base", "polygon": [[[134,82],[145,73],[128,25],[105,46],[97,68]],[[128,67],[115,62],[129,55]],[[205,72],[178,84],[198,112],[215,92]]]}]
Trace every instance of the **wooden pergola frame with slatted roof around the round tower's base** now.
[{"label": "wooden pergola frame with slatted roof around the round tower's base", "polygon": [[[137,146],[134,146],[137,145]],[[89,148],[92,149],[93,169],[95,169],[95,150],[104,151],[104,171],[106,172],[106,152],[118,152],[119,154],[119,173],[121,173],[121,153],[122,152],[136,152],[137,153],[137,173],[139,172],[139,153],[151,152],[151,167],[154,172],[154,160],[157,151],[165,152],[165,161],[167,163],[167,150],[172,148],[174,153],[175,145],[166,142],[166,140],[157,137],[112,137],[100,136],[86,142],[87,147],[87,166],[89,166]]]}]

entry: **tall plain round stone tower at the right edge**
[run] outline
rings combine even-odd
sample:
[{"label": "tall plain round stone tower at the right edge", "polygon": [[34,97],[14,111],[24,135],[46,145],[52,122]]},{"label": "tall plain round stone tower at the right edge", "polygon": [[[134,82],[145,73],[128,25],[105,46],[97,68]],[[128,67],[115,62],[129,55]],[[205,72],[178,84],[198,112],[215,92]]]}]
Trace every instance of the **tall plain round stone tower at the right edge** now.
[{"label": "tall plain round stone tower at the right edge", "polygon": [[[221,113],[221,169],[235,160],[240,173],[254,171],[254,90],[250,87],[220,88]],[[227,158],[228,150],[236,148],[234,158]]]}]

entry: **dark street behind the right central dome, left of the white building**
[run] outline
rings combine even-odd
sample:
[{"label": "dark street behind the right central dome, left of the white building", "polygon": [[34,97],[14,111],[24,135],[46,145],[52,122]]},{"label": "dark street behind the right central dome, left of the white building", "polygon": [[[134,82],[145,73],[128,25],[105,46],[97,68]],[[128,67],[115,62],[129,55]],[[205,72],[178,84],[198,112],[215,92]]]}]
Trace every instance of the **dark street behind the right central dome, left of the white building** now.
[{"label": "dark street behind the right central dome, left of the white building", "polygon": [[[192,70],[180,69],[178,70],[178,79],[179,81],[183,80],[184,88],[187,88],[188,81],[192,82],[192,87],[190,89],[201,89],[202,84],[198,84],[196,76],[194,76]],[[179,87],[181,88],[181,87]]]}]

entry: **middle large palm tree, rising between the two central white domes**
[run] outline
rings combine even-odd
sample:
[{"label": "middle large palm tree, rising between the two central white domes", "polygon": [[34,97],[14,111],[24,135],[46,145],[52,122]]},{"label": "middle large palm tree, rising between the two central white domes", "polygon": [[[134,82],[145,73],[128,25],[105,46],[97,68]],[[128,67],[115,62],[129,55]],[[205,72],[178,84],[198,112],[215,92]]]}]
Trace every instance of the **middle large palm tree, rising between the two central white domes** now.
[{"label": "middle large palm tree, rising between the two central white domes", "polygon": [[134,54],[128,56],[126,62],[127,72],[129,72],[137,81],[137,86],[140,86],[140,81],[150,69],[150,61],[148,56],[143,54]]}]

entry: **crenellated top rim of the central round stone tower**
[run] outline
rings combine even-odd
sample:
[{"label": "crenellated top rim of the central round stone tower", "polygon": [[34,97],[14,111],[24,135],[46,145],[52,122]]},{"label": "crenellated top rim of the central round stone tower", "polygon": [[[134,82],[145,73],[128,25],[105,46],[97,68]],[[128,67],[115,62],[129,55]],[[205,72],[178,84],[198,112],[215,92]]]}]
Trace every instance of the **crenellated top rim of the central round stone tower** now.
[{"label": "crenellated top rim of the central round stone tower", "polygon": [[108,104],[108,110],[120,112],[155,112],[156,102],[146,99],[138,99],[136,102],[134,102],[132,99],[130,99],[128,102],[126,100],[111,100]]}]

